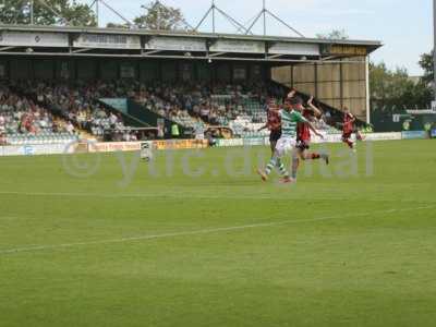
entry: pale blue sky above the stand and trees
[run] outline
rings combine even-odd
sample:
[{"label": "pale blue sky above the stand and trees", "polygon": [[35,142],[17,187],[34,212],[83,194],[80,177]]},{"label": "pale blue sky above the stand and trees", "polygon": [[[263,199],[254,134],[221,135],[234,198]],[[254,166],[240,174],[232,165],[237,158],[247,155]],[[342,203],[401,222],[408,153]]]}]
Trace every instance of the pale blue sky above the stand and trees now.
[{"label": "pale blue sky above the stand and trees", "polygon": [[[141,14],[141,4],[149,0],[104,0],[125,17]],[[262,10],[263,0],[216,0],[216,5],[241,23],[247,23]],[[92,3],[93,0],[80,0]],[[186,21],[196,25],[210,8],[211,0],[161,0],[182,9]],[[380,40],[384,47],[371,56],[395,69],[405,68],[410,75],[421,75],[420,56],[433,48],[432,0],[266,0],[267,8],[304,36],[314,37],[332,29],[344,29],[351,39]],[[100,25],[121,22],[100,8]],[[210,32],[211,19],[204,24]],[[235,27],[217,14],[217,29],[235,33]],[[262,23],[254,31],[263,33]],[[268,19],[268,35],[294,36],[287,27]]]}]

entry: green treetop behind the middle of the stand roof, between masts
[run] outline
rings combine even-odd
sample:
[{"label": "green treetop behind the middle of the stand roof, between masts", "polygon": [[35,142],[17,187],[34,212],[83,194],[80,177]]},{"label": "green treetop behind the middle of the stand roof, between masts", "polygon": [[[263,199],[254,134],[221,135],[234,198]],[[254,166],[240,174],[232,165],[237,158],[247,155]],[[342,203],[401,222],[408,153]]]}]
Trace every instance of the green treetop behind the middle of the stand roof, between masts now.
[{"label": "green treetop behind the middle of the stand roof, between masts", "polygon": [[162,5],[159,1],[149,2],[143,5],[146,14],[133,20],[141,28],[147,29],[185,29],[183,13],[178,8]]}]

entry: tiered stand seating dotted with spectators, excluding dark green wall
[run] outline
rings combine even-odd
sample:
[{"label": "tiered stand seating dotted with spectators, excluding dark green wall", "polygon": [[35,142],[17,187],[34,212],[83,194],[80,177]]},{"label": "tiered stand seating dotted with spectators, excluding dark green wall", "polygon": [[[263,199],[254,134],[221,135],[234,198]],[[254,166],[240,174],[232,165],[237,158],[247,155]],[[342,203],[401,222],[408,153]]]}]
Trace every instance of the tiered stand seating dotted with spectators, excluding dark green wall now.
[{"label": "tiered stand seating dotted with spectators, excluding dark green wall", "polygon": [[[266,100],[276,97],[280,102],[288,92],[282,85],[272,82],[245,85],[145,85],[124,81],[73,84],[24,82],[14,85],[14,90],[11,92],[8,86],[0,88],[0,95],[3,96],[0,113],[2,104],[12,101],[12,107],[3,106],[8,109],[3,110],[3,120],[7,118],[9,123],[2,128],[0,120],[0,134],[3,129],[10,144],[74,140],[77,136],[71,123],[75,129],[86,130],[96,137],[102,137],[105,131],[112,130],[118,135],[117,141],[134,140],[134,136],[126,135],[131,133],[125,129],[121,114],[101,107],[98,102],[100,98],[134,99],[147,109],[192,130],[196,129],[201,118],[206,124],[232,129],[237,136],[264,137],[268,131],[258,130],[266,122]],[[23,101],[33,108],[31,112],[48,118],[48,121],[44,119],[36,123],[37,132],[20,130],[20,119],[11,119],[16,116],[17,105]],[[319,122],[318,128],[329,133],[337,132],[324,122]]]}]

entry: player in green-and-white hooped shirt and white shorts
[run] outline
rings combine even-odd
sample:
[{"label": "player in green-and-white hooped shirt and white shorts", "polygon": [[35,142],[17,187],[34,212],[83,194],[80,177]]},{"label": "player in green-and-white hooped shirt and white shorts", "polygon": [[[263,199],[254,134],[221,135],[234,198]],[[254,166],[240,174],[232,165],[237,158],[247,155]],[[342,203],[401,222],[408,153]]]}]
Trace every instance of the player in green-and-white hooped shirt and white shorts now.
[{"label": "player in green-and-white hooped shirt and white shorts", "polygon": [[[277,142],[275,154],[266,166],[265,171],[258,170],[264,181],[268,180],[268,175],[276,167],[282,175],[283,183],[291,183],[296,181],[296,170],[299,168],[299,152],[296,148],[296,126],[299,123],[305,123],[314,132],[315,135],[323,137],[313,124],[306,120],[298,110],[296,107],[303,105],[303,100],[300,97],[293,97],[286,100],[284,109],[280,110],[281,118],[281,137]],[[291,152],[292,158],[292,175],[289,174],[284,165],[281,162],[281,158]]]}]

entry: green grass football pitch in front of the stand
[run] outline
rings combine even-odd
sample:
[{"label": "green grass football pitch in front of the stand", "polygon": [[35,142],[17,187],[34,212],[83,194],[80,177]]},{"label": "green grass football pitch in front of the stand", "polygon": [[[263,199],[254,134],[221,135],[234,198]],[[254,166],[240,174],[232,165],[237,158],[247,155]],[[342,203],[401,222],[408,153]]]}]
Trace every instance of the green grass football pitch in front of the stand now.
[{"label": "green grass football pitch in front of the stand", "polygon": [[82,179],[0,158],[0,326],[434,326],[435,146],[361,144],[340,177],[331,145],[287,186],[253,173],[259,147],[159,153],[130,183],[114,155]]}]

